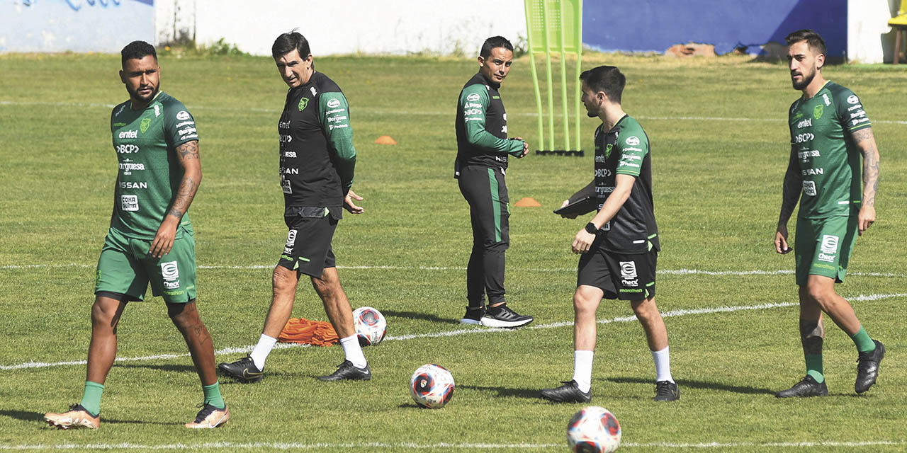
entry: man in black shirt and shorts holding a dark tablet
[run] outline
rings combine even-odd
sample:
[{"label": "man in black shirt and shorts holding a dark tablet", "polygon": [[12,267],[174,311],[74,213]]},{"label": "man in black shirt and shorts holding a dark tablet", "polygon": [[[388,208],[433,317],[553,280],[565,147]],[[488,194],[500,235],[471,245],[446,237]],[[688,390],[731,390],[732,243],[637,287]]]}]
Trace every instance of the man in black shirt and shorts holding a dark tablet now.
[{"label": "man in black shirt and shorts holding a dark tablet", "polygon": [[[598,212],[573,237],[571,250],[580,254],[573,293],[573,379],[541,398],[554,402],[591,400],[595,312],[602,298],[629,303],[642,324],[655,361],[655,400],[680,398],[671,376],[668,330],[655,304],[658,226],[652,199],[649,136],[623,111],[620,99],[627,79],[614,66],[580,74],[582,103],[595,130],[594,188]],[[564,202],[564,206],[567,201]],[[576,217],[576,215],[563,215]]]}]

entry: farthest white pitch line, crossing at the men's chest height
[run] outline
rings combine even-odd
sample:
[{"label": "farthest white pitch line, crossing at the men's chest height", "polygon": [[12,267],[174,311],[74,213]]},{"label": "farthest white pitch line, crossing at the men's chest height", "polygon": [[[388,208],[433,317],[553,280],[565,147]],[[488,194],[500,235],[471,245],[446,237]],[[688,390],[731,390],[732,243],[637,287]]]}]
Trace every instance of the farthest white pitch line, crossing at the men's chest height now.
[{"label": "farthest white pitch line, crossing at the men's chest height", "polygon": [[[47,105],[53,107],[89,107],[112,109],[116,104],[105,104],[98,102],[46,102],[46,101],[0,101],[0,106],[5,105]],[[280,113],[278,109],[262,109],[253,107],[210,107],[203,105],[188,106],[190,110],[217,110],[217,111],[258,111],[262,113]],[[450,115],[451,111],[385,111],[380,109],[370,109],[367,107],[352,108],[351,111],[361,111],[381,116],[444,116]],[[536,112],[514,111],[512,116],[536,116]],[[556,114],[555,116],[562,116]],[[736,117],[708,117],[708,116],[638,116],[638,120],[668,120],[668,121],[760,121],[760,122],[784,122],[784,118],[736,118]],[[872,120],[878,124],[907,124],[907,120]]]}]

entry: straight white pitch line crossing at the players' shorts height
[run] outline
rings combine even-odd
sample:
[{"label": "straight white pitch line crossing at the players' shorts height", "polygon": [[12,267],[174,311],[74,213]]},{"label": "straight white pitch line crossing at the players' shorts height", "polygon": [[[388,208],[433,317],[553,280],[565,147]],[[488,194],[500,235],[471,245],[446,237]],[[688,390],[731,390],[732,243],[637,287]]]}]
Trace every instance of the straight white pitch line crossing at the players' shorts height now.
[{"label": "straight white pitch line crossing at the players' shorts height", "polygon": [[[0,269],[35,269],[44,267],[94,267],[95,265],[0,265]],[[274,265],[199,265],[199,269],[238,269],[238,270],[256,270],[256,269],[273,269]],[[465,267],[445,266],[445,265],[338,265],[337,269],[387,269],[394,271],[465,271]],[[553,268],[522,268],[526,272],[576,272],[576,267],[553,267]],[[794,275],[792,270],[776,271],[703,271],[700,269],[662,269],[657,271],[662,275]],[[907,277],[905,274],[892,274],[891,272],[852,272],[848,275],[870,276],[870,277]]]}]

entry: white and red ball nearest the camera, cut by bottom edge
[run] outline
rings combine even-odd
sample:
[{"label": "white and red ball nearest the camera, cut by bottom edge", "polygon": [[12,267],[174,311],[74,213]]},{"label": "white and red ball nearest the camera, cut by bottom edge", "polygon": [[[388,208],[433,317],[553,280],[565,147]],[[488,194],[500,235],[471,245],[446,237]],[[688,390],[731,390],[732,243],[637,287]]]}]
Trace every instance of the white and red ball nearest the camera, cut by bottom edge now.
[{"label": "white and red ball nearest the camera, cut by bottom edge", "polygon": [[576,453],[610,453],[620,445],[620,423],[605,408],[582,408],[567,424],[567,444]]}]

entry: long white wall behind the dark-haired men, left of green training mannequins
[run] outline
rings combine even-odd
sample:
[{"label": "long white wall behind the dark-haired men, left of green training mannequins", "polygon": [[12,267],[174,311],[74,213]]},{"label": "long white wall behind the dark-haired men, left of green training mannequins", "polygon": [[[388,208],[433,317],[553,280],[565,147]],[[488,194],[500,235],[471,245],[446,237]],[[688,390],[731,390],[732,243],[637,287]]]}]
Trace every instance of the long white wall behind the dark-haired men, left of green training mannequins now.
[{"label": "long white wall behind the dark-haired men, left of green training mannequins", "polygon": [[[210,45],[270,55],[278,34],[298,28],[316,55],[336,53],[478,53],[495,34],[526,37],[522,0],[156,0],[157,41],[177,33]],[[174,14],[174,9],[179,11]],[[174,20],[175,17],[175,20]]]}]

